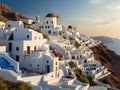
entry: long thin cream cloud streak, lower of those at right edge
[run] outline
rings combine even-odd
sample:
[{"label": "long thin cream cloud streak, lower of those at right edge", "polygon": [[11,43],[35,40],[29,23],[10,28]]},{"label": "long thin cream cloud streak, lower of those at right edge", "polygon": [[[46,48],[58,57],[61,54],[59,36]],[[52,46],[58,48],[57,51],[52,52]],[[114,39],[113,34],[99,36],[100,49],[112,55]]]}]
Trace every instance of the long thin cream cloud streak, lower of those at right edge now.
[{"label": "long thin cream cloud streak, lower of those at right edge", "polygon": [[90,22],[97,25],[108,25],[108,24],[119,23],[120,19],[81,18],[80,21]]}]

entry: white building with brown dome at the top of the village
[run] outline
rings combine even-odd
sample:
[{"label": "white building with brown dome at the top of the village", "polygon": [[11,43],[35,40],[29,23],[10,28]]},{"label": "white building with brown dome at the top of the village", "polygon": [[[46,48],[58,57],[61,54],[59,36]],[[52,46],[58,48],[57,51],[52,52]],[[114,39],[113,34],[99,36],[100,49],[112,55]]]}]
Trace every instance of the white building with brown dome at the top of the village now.
[{"label": "white building with brown dome at the top of the village", "polygon": [[32,24],[30,27],[40,28],[42,32],[50,36],[58,36],[59,32],[62,30],[62,26],[57,24],[57,19],[57,15],[48,13],[44,22],[39,22],[37,20],[38,22],[36,24]]}]

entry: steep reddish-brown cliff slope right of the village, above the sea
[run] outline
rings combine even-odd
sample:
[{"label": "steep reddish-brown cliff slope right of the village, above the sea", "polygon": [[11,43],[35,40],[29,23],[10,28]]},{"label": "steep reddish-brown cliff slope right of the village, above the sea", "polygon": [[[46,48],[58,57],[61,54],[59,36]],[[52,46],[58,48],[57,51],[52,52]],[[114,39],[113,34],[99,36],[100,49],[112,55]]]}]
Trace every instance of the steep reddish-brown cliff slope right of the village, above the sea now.
[{"label": "steep reddish-brown cliff slope right of the village, above the sea", "polygon": [[120,56],[109,50],[104,44],[91,48],[95,59],[108,68],[111,75],[105,77],[114,88],[120,89]]}]

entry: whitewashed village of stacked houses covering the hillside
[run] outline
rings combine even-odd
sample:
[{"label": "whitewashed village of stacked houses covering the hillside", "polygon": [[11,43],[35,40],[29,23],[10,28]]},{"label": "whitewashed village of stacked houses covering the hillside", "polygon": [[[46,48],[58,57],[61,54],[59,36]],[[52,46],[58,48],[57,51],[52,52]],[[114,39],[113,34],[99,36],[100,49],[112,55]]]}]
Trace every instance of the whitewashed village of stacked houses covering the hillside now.
[{"label": "whitewashed village of stacked houses covering the hillside", "polygon": [[[110,75],[94,58],[91,48],[101,44],[69,25],[58,25],[58,16],[48,13],[44,21],[0,21],[0,76],[23,81],[33,90],[101,90],[110,88],[100,82]],[[75,70],[97,82],[96,87],[82,82]]]}]

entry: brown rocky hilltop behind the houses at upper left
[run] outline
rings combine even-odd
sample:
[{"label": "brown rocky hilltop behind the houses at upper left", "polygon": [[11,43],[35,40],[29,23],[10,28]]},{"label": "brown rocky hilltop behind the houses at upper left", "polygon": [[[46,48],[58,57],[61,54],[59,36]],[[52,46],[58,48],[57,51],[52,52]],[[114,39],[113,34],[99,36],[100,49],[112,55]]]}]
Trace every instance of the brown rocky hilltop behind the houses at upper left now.
[{"label": "brown rocky hilltop behind the houses at upper left", "polygon": [[7,5],[0,3],[0,21],[6,22],[7,20],[27,20],[25,16],[15,13]]}]

